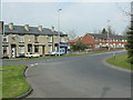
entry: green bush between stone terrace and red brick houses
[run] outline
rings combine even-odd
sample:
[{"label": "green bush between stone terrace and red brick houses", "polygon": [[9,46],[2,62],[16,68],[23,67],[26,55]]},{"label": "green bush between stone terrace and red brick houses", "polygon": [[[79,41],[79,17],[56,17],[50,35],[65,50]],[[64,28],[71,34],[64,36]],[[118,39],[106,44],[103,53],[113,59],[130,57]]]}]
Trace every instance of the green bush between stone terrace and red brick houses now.
[{"label": "green bush between stone terrace and red brick houses", "polygon": [[81,41],[78,41],[78,43],[71,43],[71,49],[73,51],[83,51],[85,49],[85,46],[81,42]]}]

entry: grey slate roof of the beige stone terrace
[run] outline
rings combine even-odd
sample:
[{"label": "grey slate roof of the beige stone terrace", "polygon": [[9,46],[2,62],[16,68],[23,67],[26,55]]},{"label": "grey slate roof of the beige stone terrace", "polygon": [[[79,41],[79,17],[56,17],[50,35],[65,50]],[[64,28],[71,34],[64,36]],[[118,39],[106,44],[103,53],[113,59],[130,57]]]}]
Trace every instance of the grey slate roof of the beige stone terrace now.
[{"label": "grey slate roof of the beige stone terrace", "polygon": [[[29,31],[24,29],[24,26],[13,26],[13,30],[9,29],[9,26],[4,26],[4,33],[13,33],[13,34],[59,34],[58,31],[51,31],[51,29],[43,28],[42,31],[38,30],[38,27],[29,27]],[[63,32],[60,32],[61,36],[66,36],[63,34]]]}]

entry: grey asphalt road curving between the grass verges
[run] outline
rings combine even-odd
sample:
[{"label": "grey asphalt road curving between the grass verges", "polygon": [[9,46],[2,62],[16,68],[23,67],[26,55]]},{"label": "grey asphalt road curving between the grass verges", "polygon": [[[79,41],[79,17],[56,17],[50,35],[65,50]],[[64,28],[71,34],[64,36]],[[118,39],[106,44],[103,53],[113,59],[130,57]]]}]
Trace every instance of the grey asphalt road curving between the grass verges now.
[{"label": "grey asphalt road curving between the grass verges", "polygon": [[131,98],[131,72],[106,67],[103,60],[111,56],[106,52],[3,64],[29,66],[25,76],[33,92],[28,98]]}]

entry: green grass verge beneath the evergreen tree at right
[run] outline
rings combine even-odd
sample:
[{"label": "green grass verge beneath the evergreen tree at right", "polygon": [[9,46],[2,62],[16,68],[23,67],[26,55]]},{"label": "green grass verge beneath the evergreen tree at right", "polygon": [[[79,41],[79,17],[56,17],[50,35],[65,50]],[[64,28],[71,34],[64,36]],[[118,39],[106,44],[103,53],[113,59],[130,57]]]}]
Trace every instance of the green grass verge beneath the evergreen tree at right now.
[{"label": "green grass verge beneath the evergreen tree at right", "polygon": [[131,64],[130,64],[130,61],[127,59],[127,54],[126,53],[121,54],[121,56],[115,56],[115,58],[114,57],[108,58],[106,62],[109,62],[111,64],[114,64],[116,67],[121,67],[121,68],[131,70]]}]

